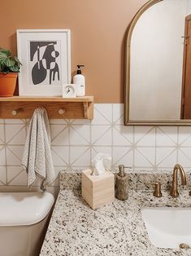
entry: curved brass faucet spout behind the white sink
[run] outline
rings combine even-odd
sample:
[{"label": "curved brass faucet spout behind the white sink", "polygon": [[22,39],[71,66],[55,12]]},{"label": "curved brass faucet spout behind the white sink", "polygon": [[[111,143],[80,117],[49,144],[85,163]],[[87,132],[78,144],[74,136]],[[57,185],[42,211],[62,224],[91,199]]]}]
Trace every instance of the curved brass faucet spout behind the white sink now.
[{"label": "curved brass faucet spout behind the white sink", "polygon": [[178,186],[178,179],[177,179],[178,170],[180,170],[181,184],[182,185],[186,184],[184,169],[179,164],[176,164],[176,166],[174,167],[174,170],[173,170],[172,187],[171,187],[171,193],[170,193],[171,196],[173,196],[173,197],[178,197],[179,196],[179,192],[178,192],[178,189],[177,189],[177,186]]}]

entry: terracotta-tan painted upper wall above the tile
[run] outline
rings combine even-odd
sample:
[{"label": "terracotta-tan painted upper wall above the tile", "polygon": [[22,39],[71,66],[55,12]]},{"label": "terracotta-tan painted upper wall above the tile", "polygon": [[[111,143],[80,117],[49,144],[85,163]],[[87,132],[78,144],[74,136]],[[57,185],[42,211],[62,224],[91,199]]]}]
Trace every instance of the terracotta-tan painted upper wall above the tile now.
[{"label": "terracotta-tan painted upper wall above the tile", "polygon": [[[16,29],[71,29],[72,73],[85,64],[86,94],[124,101],[124,34],[146,0],[0,0],[0,46],[16,53]],[[3,25],[5,26],[3,27]]]}]

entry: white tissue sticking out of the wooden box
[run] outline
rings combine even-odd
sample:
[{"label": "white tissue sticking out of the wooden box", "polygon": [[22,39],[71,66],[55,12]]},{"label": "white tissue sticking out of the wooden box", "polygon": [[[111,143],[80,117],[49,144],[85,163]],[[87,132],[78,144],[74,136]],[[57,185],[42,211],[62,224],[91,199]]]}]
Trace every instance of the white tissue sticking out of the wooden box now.
[{"label": "white tissue sticking out of the wooden box", "polygon": [[111,156],[105,153],[98,153],[92,160],[93,174],[101,175],[111,170]]}]

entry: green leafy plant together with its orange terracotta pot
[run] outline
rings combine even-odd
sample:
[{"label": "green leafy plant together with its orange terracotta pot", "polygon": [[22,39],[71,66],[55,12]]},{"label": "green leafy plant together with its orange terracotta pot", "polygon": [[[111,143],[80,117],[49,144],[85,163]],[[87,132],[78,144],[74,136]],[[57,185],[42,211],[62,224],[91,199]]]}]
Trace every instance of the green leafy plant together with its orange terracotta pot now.
[{"label": "green leafy plant together with its orange terracotta pot", "polygon": [[11,51],[0,47],[0,97],[13,96],[20,65],[20,60],[12,56]]}]

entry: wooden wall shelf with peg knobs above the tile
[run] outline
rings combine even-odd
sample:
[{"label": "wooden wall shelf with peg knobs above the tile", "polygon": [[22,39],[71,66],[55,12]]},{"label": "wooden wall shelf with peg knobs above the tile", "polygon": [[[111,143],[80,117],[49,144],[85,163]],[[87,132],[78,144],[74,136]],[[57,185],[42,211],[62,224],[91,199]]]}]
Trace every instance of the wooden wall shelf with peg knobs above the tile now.
[{"label": "wooden wall shelf with peg knobs above the tile", "polygon": [[39,107],[46,108],[50,119],[93,119],[93,96],[0,97],[0,118],[28,119]]}]

